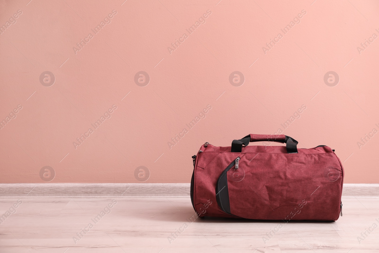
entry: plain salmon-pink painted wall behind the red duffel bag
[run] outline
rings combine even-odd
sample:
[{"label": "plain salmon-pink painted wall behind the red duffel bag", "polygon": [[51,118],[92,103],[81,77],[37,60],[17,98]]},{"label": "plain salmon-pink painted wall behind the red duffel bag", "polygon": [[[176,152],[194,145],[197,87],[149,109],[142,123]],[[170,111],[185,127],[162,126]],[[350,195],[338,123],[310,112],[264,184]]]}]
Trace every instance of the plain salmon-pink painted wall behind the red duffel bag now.
[{"label": "plain salmon-pink painted wall behind the red duffel bag", "polygon": [[0,2],[0,182],[189,182],[205,141],[281,129],[379,183],[377,1],[104,2]]}]

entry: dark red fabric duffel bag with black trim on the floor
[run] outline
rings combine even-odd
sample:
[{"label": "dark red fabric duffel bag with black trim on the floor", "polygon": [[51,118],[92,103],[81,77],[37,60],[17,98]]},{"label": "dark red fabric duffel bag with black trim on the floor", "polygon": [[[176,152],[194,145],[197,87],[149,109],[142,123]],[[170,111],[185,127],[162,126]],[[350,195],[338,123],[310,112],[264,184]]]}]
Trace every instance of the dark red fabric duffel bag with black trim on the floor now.
[{"label": "dark red fabric duffel bag with black trim on the floor", "polygon": [[[276,141],[286,146],[247,146]],[[207,142],[193,156],[191,201],[198,216],[337,220],[343,167],[334,150],[297,148],[286,135],[250,134],[231,147]],[[243,147],[244,145],[244,147]]]}]

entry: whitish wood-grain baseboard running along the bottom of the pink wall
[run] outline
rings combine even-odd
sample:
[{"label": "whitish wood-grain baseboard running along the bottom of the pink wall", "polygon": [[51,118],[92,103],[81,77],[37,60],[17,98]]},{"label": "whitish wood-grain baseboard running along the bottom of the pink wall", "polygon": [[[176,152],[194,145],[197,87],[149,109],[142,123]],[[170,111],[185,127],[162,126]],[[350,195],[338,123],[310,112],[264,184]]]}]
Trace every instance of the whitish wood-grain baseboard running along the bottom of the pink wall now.
[{"label": "whitish wood-grain baseboard running along the bottom of the pink wall", "polygon": [[[0,198],[186,198],[190,184],[0,184]],[[343,198],[379,198],[379,184],[344,184]]]}]

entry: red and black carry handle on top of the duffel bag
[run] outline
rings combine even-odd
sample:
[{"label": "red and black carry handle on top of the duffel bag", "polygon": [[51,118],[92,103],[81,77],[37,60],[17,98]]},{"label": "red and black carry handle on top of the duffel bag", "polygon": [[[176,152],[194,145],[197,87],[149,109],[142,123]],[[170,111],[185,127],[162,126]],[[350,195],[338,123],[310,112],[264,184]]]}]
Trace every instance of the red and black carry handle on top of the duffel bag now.
[{"label": "red and black carry handle on top of the duffel bag", "polygon": [[294,154],[298,152],[298,141],[287,136],[287,135],[266,135],[266,134],[249,134],[240,140],[232,141],[232,150],[231,152],[242,152],[242,145],[249,145],[250,142],[254,141],[275,141],[286,144],[286,149],[288,154]]}]

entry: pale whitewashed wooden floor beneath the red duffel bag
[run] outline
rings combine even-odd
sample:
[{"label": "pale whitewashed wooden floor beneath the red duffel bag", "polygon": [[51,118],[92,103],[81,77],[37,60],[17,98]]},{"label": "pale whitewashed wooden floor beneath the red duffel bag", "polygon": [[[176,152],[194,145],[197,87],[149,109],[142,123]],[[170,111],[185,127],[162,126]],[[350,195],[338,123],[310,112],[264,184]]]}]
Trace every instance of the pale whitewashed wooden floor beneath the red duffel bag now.
[{"label": "pale whitewashed wooden floor beneath the red duffel bag", "polygon": [[[343,198],[343,216],[337,222],[290,223],[222,218],[197,218],[191,223],[194,210],[189,198],[20,200],[16,213],[0,224],[1,253],[379,252],[379,227],[366,232],[360,244],[357,240],[373,223],[379,225],[378,198]],[[117,204],[95,224],[91,219],[112,200]],[[0,199],[0,214],[16,202]],[[75,244],[73,237],[88,223],[93,228]],[[174,239],[171,233],[183,223],[188,227]],[[262,237],[279,223],[283,227],[265,244]],[[174,240],[170,243],[168,237]]]}]

